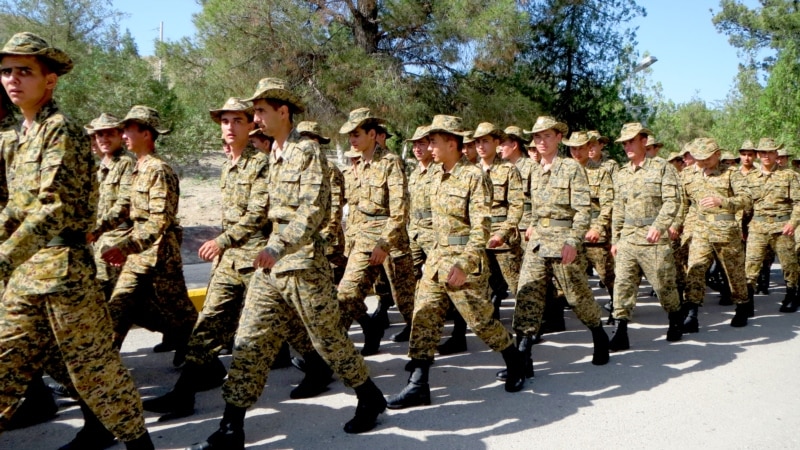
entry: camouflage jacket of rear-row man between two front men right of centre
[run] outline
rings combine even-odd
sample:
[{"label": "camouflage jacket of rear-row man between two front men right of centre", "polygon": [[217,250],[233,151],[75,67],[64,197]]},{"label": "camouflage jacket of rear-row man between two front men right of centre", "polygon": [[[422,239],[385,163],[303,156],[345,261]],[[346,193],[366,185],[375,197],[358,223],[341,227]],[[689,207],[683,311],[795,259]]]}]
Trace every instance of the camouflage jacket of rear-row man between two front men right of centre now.
[{"label": "camouflage jacket of rear-row man between two front men right of centre", "polygon": [[492,182],[492,235],[500,236],[505,241],[500,248],[518,246],[520,244],[519,222],[525,209],[525,194],[522,189],[522,178],[514,164],[495,156],[492,165],[484,168],[486,176]]}]

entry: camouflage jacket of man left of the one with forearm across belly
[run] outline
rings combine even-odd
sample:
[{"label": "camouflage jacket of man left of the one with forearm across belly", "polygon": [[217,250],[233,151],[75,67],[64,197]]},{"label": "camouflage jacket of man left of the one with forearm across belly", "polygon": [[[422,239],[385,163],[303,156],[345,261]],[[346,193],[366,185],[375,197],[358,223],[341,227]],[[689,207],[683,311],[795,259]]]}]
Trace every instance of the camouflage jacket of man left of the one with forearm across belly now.
[{"label": "camouflage jacket of man left of the one with forearm across belly", "polygon": [[649,245],[651,227],[661,232],[656,244],[669,243],[668,228],[678,214],[680,197],[675,168],[668,162],[645,158],[641,166],[625,164],[614,180],[614,210],[611,214],[611,244],[621,239]]}]

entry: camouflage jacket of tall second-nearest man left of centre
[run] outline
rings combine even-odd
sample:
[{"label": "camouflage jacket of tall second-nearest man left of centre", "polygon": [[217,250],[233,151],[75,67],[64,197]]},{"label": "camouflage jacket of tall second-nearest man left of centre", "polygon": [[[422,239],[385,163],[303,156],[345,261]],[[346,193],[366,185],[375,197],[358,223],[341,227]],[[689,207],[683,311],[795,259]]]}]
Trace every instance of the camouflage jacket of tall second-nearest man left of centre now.
[{"label": "camouflage jacket of tall second-nearest man left of centre", "polygon": [[[278,260],[272,273],[314,269],[325,260],[320,230],[330,217],[331,180],[319,144],[301,139],[293,129],[278,151],[269,155],[269,219],[267,250]],[[327,261],[324,262],[327,267]]]}]

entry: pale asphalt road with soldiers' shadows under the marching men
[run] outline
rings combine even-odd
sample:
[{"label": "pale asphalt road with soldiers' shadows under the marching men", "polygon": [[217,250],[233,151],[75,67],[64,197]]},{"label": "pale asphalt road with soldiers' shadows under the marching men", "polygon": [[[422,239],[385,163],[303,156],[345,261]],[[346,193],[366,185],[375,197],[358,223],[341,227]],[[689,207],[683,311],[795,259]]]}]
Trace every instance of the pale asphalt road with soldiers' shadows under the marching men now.
[{"label": "pale asphalt road with soldiers' shadows under the marching men", "polygon": [[[208,265],[187,266],[190,287],[205,284]],[[756,296],[756,317],[745,328],[728,325],[733,307],[719,306],[709,291],[700,310],[700,332],[678,343],[664,340],[667,317],[650,287],[642,285],[631,349],[611,362],[591,364],[591,335],[570,312],[567,331],[545,336],[534,347],[536,377],[522,392],[506,393],[494,380],[499,354],[468,335],[469,352],[436,358],[431,368],[432,404],[387,411],[370,433],[348,435],[342,426],[355,411],[351,390],[336,381],[317,398],[290,400],[302,373],[270,373],[258,403],[248,411],[245,432],[253,449],[528,449],[528,448],[800,448],[800,313],[781,314],[785,293],[773,266],[770,295]],[[599,302],[604,289],[591,279]],[[782,284],[782,283],[780,283]],[[374,298],[368,301],[374,308]],[[502,321],[510,328],[513,302]],[[406,383],[407,344],[388,339],[400,330],[400,315],[387,330],[381,352],[367,358],[385,394]],[[445,334],[449,334],[448,323]],[[613,327],[606,326],[611,335]],[[360,347],[358,327],[351,332]],[[144,398],[167,392],[178,377],[172,354],[154,354],[160,335],[135,329],[122,356]],[[226,365],[230,356],[224,356]],[[0,449],[55,449],[82,425],[74,401],[58,399],[58,416],[45,424],[0,435]],[[157,448],[174,449],[205,439],[222,415],[220,390],[198,394],[196,414],[158,422],[146,413]],[[122,444],[115,447],[122,449]]]}]

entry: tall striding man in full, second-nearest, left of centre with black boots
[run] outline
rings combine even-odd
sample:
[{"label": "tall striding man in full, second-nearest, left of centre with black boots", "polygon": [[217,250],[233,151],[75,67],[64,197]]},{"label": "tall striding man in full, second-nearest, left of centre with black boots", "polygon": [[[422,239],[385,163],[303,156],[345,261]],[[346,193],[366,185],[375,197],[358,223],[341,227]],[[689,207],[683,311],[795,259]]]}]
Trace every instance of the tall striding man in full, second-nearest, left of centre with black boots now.
[{"label": "tall striding man in full, second-nearest, left of centre with black boots", "polygon": [[305,107],[286,89],[285,81],[264,78],[245,101],[253,102],[256,123],[275,138],[268,188],[273,229],[254,261],[257,269],[269,271],[257,270],[247,293],[233,361],[222,387],[225,412],[219,430],[191,448],[244,448],[245,412],[264,390],[270,364],[281,342],[295,332],[292,325],[297,318],[319,352],[303,355],[307,373],[317,373],[329,362],[358,396],[355,417],[344,431],[369,431],[385,410],[386,400],[341,327],[339,305],[332,295],[330,264],[319,235],[330,216],[325,155],[315,141],[301,138],[294,128],[294,114]]}]

